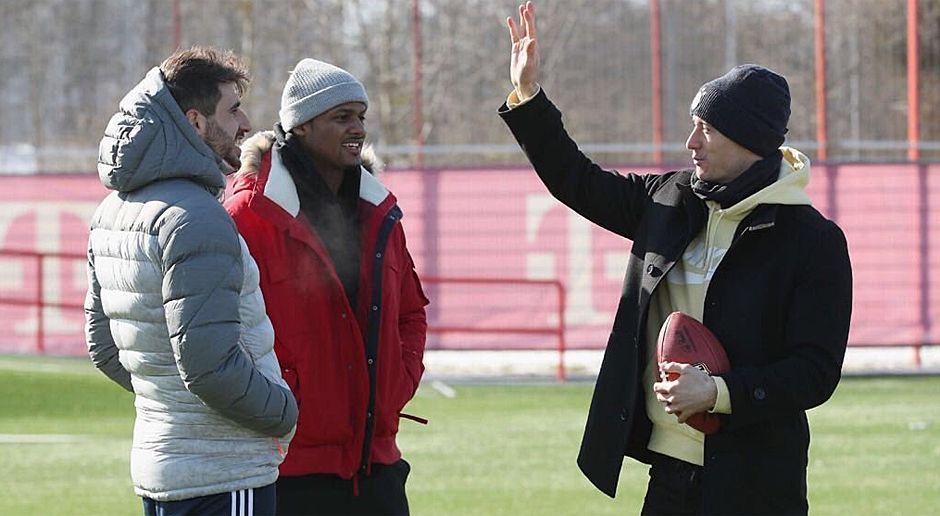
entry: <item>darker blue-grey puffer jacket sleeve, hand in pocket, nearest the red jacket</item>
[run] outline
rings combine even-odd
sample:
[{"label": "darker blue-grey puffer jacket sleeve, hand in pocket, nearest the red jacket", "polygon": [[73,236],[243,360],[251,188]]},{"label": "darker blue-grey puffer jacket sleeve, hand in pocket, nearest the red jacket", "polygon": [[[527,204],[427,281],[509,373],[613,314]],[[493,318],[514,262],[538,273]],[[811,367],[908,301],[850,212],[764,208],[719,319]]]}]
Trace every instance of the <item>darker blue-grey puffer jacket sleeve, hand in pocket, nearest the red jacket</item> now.
[{"label": "darker blue-grey puffer jacket sleeve, hand in pocket, nearest the red jacket", "polygon": [[235,225],[221,205],[166,224],[163,307],[186,388],[232,421],[279,437],[293,428],[297,404],[271,383],[238,346],[243,281]]}]

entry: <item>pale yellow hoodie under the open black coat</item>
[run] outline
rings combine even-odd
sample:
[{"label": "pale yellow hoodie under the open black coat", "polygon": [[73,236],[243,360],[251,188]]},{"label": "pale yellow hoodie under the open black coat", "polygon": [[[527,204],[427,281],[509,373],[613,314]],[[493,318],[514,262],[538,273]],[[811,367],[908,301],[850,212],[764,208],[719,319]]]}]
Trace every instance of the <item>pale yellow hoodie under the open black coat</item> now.
[{"label": "pale yellow hoodie under the open black coat", "polygon": [[[812,205],[805,191],[809,183],[809,158],[790,147],[781,147],[780,151],[783,160],[777,181],[726,209],[717,202],[705,202],[708,207],[705,228],[689,242],[682,259],[676,262],[650,300],[643,388],[646,413],[653,422],[648,446],[652,451],[699,466],[704,463],[705,435],[688,425],[679,424],[676,416],[666,413],[653,392],[653,383],[659,377],[656,337],[671,312],[685,312],[702,320],[705,294],[715,270],[728,252],[738,224],[755,207],[759,204]],[[718,385],[718,401],[713,412],[730,414],[728,388],[721,378],[716,378],[715,383]]]}]

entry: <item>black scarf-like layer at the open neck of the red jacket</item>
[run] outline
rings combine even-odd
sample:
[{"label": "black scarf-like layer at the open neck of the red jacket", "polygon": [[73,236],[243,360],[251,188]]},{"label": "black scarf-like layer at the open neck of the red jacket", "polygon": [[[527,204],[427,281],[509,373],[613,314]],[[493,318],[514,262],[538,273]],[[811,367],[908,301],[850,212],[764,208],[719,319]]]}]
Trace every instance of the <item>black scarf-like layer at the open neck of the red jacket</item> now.
[{"label": "black scarf-like layer at the open neck of the red jacket", "polygon": [[297,187],[300,211],[333,259],[349,305],[355,310],[359,295],[359,170],[350,169],[333,195],[293,135],[285,133],[281,124],[275,124],[274,134],[275,149],[280,150]]}]

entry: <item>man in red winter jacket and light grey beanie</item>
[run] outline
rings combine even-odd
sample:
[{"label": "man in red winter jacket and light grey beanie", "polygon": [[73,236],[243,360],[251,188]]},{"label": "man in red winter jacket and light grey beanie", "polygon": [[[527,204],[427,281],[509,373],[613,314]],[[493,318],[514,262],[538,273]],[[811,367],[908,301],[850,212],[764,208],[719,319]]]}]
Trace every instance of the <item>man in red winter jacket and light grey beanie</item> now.
[{"label": "man in red winter jacket and light grey beanie", "polygon": [[225,202],[300,407],[278,514],[408,513],[395,436],[424,372],[428,300],[395,197],[361,166],[368,104],[345,70],[301,60]]}]

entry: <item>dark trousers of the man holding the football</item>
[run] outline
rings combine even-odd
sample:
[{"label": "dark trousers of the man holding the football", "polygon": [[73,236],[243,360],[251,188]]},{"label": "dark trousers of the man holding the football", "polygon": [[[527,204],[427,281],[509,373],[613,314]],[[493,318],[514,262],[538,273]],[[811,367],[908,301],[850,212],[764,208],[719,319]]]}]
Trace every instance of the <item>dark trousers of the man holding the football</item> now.
[{"label": "dark trousers of the man holding the football", "polygon": [[658,453],[654,455],[640,514],[702,514],[702,467]]}]

